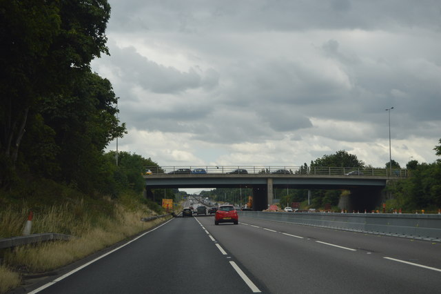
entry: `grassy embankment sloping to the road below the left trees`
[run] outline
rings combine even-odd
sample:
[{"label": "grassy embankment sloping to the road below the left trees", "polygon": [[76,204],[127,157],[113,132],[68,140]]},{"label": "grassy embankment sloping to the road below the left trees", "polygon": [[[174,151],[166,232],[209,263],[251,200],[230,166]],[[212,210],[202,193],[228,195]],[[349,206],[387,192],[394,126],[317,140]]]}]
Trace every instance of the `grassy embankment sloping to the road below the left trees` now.
[{"label": "grassy embankment sloping to the road below the left trees", "polygon": [[[38,188],[38,187],[37,187]],[[47,187],[42,188],[47,190]],[[22,235],[30,210],[34,213],[31,233],[64,233],[70,241],[45,242],[0,251],[0,293],[20,285],[27,273],[51,271],[115,244],[170,217],[141,222],[142,217],[163,214],[135,195],[87,197],[57,186],[59,195],[34,193],[34,197],[0,194],[0,238]]]}]

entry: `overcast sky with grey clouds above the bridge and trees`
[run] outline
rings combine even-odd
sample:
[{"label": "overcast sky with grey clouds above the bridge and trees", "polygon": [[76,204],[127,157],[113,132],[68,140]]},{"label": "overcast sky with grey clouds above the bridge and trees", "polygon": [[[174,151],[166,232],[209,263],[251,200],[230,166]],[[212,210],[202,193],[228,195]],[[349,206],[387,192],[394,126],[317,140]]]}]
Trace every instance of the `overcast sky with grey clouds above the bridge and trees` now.
[{"label": "overcast sky with grey clouds above the bridge and trees", "polygon": [[[119,150],[160,166],[431,163],[439,0],[110,0]],[[108,150],[115,150],[112,142]]]}]

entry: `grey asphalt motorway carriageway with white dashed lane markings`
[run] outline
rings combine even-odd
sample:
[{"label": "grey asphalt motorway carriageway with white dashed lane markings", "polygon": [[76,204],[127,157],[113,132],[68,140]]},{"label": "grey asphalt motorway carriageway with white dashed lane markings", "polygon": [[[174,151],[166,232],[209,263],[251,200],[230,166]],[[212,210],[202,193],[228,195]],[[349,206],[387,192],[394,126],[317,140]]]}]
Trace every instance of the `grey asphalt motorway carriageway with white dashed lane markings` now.
[{"label": "grey asphalt motorway carriageway with white dashed lane markings", "polygon": [[[48,282],[50,282],[48,284]],[[441,244],[176,217],[31,293],[440,293]]]}]

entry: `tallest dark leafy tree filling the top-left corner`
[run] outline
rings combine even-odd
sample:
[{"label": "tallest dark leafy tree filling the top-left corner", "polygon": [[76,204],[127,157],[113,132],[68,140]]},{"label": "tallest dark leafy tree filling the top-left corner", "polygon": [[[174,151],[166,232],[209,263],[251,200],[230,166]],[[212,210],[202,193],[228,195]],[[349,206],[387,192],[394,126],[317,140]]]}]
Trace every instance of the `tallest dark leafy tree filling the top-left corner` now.
[{"label": "tallest dark leafy tree filling the top-left corner", "polygon": [[106,0],[0,3],[0,186],[14,173],[29,115],[42,97],[64,99],[71,82],[107,53]]}]

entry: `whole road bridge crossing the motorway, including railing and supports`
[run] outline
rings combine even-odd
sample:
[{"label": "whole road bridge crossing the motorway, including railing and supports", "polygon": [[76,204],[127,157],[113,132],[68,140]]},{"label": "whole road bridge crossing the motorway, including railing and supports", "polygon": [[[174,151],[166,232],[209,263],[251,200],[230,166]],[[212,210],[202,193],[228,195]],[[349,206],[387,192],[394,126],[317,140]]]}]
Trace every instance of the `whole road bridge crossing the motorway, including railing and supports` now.
[{"label": "whole road bridge crossing the motorway, including railing and supports", "polygon": [[350,190],[348,209],[371,210],[387,182],[407,170],[303,166],[165,166],[146,167],[147,195],[152,188],[252,188],[253,210],[273,203],[274,188]]}]

